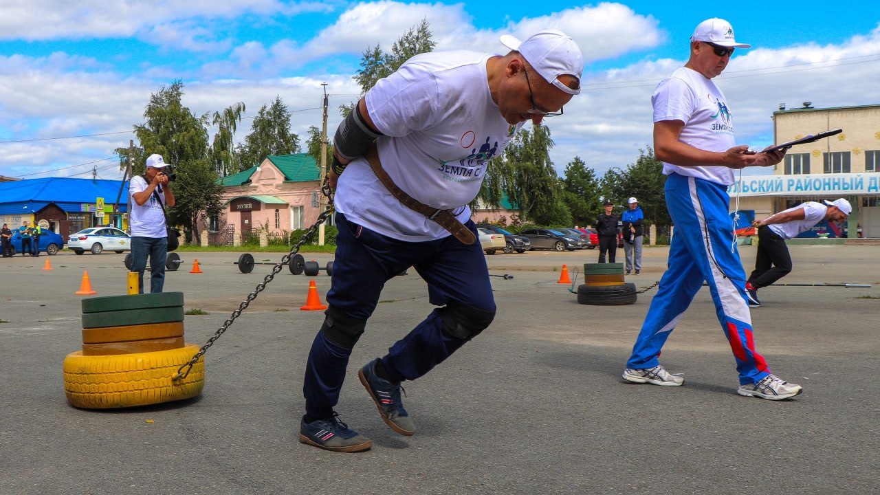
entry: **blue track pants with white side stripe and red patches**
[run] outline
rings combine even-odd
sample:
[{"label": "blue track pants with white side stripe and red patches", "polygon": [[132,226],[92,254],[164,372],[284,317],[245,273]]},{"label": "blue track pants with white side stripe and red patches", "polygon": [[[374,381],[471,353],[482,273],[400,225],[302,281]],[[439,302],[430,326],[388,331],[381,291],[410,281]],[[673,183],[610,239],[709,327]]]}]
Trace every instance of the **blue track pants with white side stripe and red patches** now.
[{"label": "blue track pants with white side stripe and red patches", "polygon": [[659,364],[657,358],[666,339],[705,281],[737,361],[739,383],[757,382],[769,370],[755,351],[752,315],[745,299],[745,272],[734,245],[727,188],[671,174],[666,178],[665,193],[675,224],[669,262],[627,367],[643,369]]}]

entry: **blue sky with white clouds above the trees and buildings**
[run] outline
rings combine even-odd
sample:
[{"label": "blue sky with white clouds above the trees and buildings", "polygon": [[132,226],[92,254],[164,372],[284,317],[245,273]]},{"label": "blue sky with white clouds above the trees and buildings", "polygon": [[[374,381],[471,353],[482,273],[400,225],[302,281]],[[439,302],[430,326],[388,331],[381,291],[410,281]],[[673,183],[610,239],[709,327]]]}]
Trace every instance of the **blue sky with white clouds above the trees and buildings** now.
[{"label": "blue sky with white clouds above the trees and buildings", "polygon": [[587,61],[584,91],[548,122],[551,157],[562,170],[580,156],[604,174],[650,144],[650,93],[685,62],[693,27],[710,17],[730,20],[737,40],[752,44],[717,79],[741,144],[772,143],[770,117],[780,103],[880,104],[880,9],[867,2],[5,0],[0,174],[119,177],[114,148],[134,137],[150,93],[175,79],[196,114],[242,101],[252,118],[280,96],[301,137],[320,126],[326,82],[332,133],[335,107],[359,92],[351,76],[363,50],[390,49],[422,18],[436,49],[502,53],[502,33],[571,34]]}]

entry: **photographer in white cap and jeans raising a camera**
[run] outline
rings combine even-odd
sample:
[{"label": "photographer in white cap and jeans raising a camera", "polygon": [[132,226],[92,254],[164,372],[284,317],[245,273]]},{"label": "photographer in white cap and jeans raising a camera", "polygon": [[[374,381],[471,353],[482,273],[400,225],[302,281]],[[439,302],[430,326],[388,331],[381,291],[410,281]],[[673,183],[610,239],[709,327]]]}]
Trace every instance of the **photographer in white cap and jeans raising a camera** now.
[{"label": "photographer in white cap and jeans raising a camera", "polygon": [[[162,155],[147,158],[143,175],[132,177],[128,184],[131,206],[131,271],[140,274],[138,289],[143,294],[143,271],[150,258],[150,292],[162,292],[165,285],[165,260],[168,256],[168,232],[165,206],[174,206],[170,181],[174,174]],[[168,167],[168,170],[165,168]],[[173,240],[175,243],[177,239]]]}]

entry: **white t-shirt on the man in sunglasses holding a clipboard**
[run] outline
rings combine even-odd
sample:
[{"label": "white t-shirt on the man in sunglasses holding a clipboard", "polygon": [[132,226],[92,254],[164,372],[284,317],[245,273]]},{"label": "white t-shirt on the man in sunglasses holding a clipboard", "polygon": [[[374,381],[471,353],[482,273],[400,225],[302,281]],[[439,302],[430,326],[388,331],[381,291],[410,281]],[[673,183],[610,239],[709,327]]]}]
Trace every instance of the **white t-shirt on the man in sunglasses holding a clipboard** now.
[{"label": "white t-shirt on the man in sunglasses holding a clipboard", "polygon": [[[681,121],[678,140],[706,151],[727,151],[736,141],[733,117],[724,93],[718,86],[697,72],[679,67],[669,78],[657,85],[651,95],[654,122]],[[664,163],[663,173],[699,177],[724,186],[733,184],[733,170],[726,166],[677,166]]]}]

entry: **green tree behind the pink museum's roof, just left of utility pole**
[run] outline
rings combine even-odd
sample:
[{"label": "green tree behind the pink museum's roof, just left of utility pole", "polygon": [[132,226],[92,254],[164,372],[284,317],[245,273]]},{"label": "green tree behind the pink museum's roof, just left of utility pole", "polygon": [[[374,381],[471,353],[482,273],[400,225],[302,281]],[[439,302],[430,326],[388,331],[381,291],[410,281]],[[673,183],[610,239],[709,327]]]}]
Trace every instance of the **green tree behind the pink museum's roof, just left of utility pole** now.
[{"label": "green tree behind the pink museum's roof, just left of utility pole", "polygon": [[299,137],[290,132],[290,110],[281,97],[276,96],[271,106],[260,107],[253,118],[251,133],[238,145],[237,151],[243,170],[260,165],[269,155],[300,151]]}]

